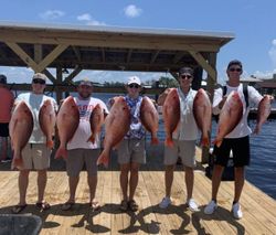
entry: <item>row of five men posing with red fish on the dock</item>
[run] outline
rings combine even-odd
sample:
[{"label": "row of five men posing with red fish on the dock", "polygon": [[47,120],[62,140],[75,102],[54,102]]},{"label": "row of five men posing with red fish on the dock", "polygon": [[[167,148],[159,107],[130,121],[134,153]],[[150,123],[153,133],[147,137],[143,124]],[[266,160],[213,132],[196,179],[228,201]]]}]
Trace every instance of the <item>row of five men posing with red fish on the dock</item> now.
[{"label": "row of five men posing with red fish on the dock", "polygon": [[[248,100],[250,106],[245,104],[243,96],[243,85],[240,83],[240,76],[243,73],[243,65],[240,61],[231,61],[227,66],[229,82],[226,85],[226,94],[223,94],[222,88],[219,88],[214,93],[213,99],[213,113],[220,114],[220,110],[225,103],[227,95],[232,90],[236,90],[243,102],[244,109],[243,118],[235,129],[230,132],[224,139],[221,147],[214,148],[215,165],[212,177],[212,197],[210,203],[205,206],[204,213],[212,214],[217,207],[216,195],[221,182],[221,177],[224,167],[227,164],[230,151],[233,152],[234,168],[235,168],[235,194],[233,200],[232,212],[235,218],[243,216],[240,197],[244,184],[244,168],[250,164],[250,135],[251,129],[247,125],[247,115],[250,107],[258,105],[263,96],[252,86],[248,86]],[[191,67],[182,67],[179,71],[178,82],[179,88],[177,89],[180,99],[180,124],[177,130],[173,132],[173,147],[164,147],[164,186],[166,195],[161,200],[159,206],[167,209],[171,204],[171,188],[173,182],[174,165],[180,157],[184,165],[185,171],[185,186],[187,186],[187,206],[191,211],[199,211],[199,206],[192,196],[194,174],[193,169],[195,167],[195,142],[198,139],[198,127],[193,117],[193,99],[197,95],[197,90],[191,88],[193,81],[193,70]],[[2,75],[1,75],[1,83]],[[7,81],[6,81],[7,82]],[[26,147],[22,151],[23,168],[19,173],[19,203],[12,209],[13,213],[20,213],[26,206],[26,189],[29,183],[30,170],[38,171],[38,188],[39,195],[36,206],[42,210],[50,209],[50,204],[44,200],[44,191],[46,185],[46,170],[50,167],[51,151],[45,147],[45,137],[43,136],[39,126],[39,109],[45,99],[51,99],[52,105],[57,109],[55,100],[51,97],[43,95],[46,84],[46,77],[43,74],[34,74],[32,78],[32,92],[21,94],[15,100],[24,100],[34,117],[34,128],[29,139]],[[145,136],[146,131],[140,122],[140,105],[142,100],[141,81],[137,76],[132,76],[126,84],[125,100],[129,107],[131,121],[129,131],[124,137],[124,140],[119,143],[118,163],[120,165],[120,188],[123,193],[123,200],[120,202],[120,209],[123,211],[131,210],[137,211],[138,204],[135,201],[135,191],[138,184],[139,167],[146,163],[146,147]],[[0,94],[2,87],[0,86]],[[79,180],[79,172],[83,165],[86,165],[87,182],[89,186],[91,197],[89,206],[92,210],[99,209],[99,202],[96,200],[96,185],[97,185],[97,158],[100,153],[100,140],[96,139],[94,143],[87,142],[91,136],[89,116],[93,108],[98,104],[105,117],[108,115],[108,108],[100,99],[92,97],[93,84],[88,79],[81,81],[77,87],[77,97],[75,103],[79,110],[79,125],[72,140],[67,143],[68,157],[66,159],[66,171],[68,175],[70,196],[68,200],[62,205],[62,210],[71,210],[75,204],[75,192]],[[8,96],[8,93],[6,94]],[[158,100],[159,105],[163,104],[166,96],[161,94]],[[13,104],[13,100],[11,99]],[[2,103],[1,103],[2,104]],[[8,103],[6,104],[8,106]],[[11,106],[6,107],[7,110],[11,109]],[[7,137],[7,129],[10,116],[3,118],[0,116],[0,133]],[[3,127],[4,126],[4,127]],[[2,129],[2,130],[1,130]],[[9,132],[9,131],[8,131]]]}]

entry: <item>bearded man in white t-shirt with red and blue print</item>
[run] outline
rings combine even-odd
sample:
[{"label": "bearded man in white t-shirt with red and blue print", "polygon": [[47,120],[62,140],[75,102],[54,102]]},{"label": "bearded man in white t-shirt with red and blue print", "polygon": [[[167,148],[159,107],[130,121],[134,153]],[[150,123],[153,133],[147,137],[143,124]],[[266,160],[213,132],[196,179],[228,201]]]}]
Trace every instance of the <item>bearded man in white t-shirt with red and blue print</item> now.
[{"label": "bearded man in white t-shirt with red and blue print", "polygon": [[79,110],[79,125],[67,143],[68,156],[66,159],[66,170],[70,184],[70,199],[62,205],[63,211],[68,211],[75,204],[75,192],[79,180],[79,172],[84,164],[87,171],[87,181],[91,192],[89,206],[92,210],[99,209],[99,203],[95,199],[97,186],[97,159],[100,153],[99,135],[95,142],[87,141],[92,135],[89,118],[96,105],[99,105],[104,115],[108,114],[108,109],[104,102],[98,98],[91,97],[93,84],[88,79],[81,81],[77,87],[77,97],[75,103]]}]

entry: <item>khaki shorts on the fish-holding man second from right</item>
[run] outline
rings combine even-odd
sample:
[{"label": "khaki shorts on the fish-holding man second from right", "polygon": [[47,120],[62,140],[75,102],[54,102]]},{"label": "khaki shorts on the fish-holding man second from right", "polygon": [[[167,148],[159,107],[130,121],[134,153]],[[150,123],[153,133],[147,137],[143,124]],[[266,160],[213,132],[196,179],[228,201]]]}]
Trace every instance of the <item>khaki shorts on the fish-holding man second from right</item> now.
[{"label": "khaki shorts on the fish-holding man second from right", "polygon": [[178,157],[183,165],[195,167],[195,140],[173,140],[173,147],[164,147],[163,163],[166,165],[176,164]]}]

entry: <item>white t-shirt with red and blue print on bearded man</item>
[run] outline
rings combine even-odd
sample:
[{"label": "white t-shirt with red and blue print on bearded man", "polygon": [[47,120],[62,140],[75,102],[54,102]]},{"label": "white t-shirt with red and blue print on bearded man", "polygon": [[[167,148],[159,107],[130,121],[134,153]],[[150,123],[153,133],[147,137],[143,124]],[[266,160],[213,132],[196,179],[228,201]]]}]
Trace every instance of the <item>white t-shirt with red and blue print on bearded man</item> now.
[{"label": "white t-shirt with red and blue print on bearded man", "polygon": [[98,98],[88,98],[88,99],[79,99],[75,97],[76,106],[79,110],[79,125],[76,129],[75,135],[72,140],[67,143],[67,149],[98,149],[100,148],[99,136],[95,139],[95,143],[91,141],[87,142],[87,139],[91,137],[91,114],[94,107],[99,104],[104,109],[105,114],[108,114],[108,109],[104,102]]}]

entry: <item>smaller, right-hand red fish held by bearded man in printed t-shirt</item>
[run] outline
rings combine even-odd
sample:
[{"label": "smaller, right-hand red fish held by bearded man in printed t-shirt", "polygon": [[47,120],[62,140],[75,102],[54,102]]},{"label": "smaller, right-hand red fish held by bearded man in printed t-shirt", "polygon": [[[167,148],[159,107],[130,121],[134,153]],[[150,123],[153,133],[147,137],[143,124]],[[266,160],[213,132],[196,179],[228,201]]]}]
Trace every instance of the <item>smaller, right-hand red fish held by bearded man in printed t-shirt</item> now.
[{"label": "smaller, right-hand red fish held by bearded man in printed t-shirt", "polygon": [[97,104],[91,114],[91,137],[88,138],[87,142],[95,142],[98,133],[100,132],[102,126],[105,121],[104,111],[99,104]]}]

